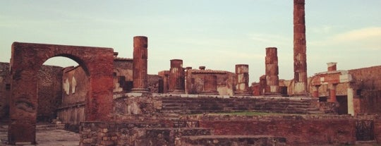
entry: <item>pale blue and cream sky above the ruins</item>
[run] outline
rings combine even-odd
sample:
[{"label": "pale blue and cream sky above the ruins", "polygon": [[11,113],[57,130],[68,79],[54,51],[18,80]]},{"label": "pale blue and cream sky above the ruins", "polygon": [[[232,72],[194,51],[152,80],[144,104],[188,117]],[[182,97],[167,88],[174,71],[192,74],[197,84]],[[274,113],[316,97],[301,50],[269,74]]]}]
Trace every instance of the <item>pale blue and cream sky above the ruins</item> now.
[{"label": "pale blue and cream sky above the ruins", "polygon": [[[277,47],[279,78],[294,78],[291,0],[0,0],[0,62],[13,42],[111,47],[133,58],[133,37],[148,37],[148,73],[183,67],[235,71],[250,83],[265,74],[265,48]],[[308,76],[381,65],[380,0],[306,0]],[[45,64],[73,66],[54,57]]]}]

